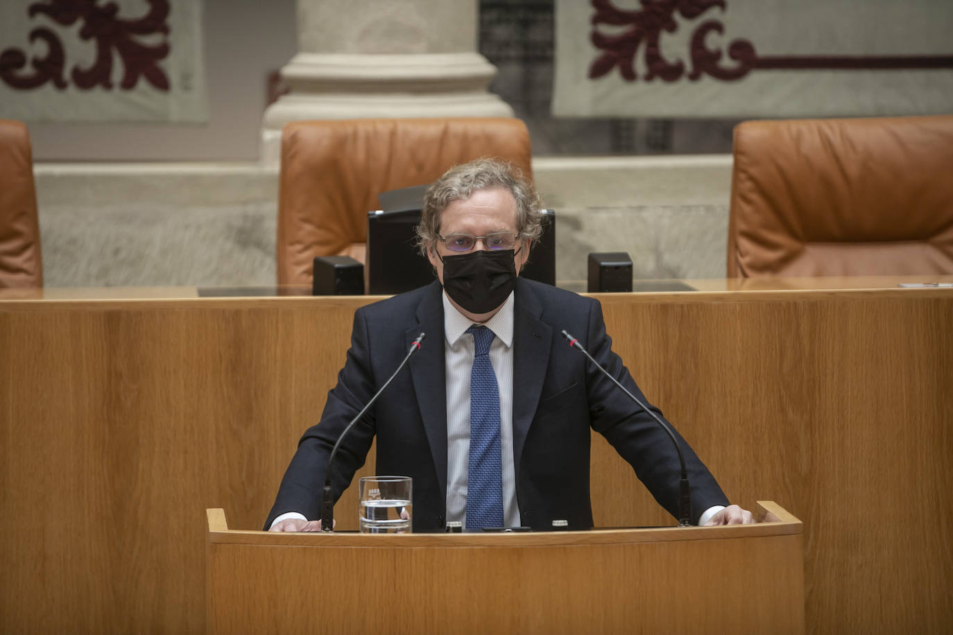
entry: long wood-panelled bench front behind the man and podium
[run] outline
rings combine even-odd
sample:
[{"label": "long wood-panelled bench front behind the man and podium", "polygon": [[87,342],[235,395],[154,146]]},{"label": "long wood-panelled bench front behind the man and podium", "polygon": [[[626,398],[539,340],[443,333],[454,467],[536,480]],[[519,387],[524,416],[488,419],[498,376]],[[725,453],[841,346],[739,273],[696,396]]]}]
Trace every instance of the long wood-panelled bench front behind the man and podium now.
[{"label": "long wood-panelled bench front behind the man and podium", "polygon": [[[809,630],[953,623],[953,295],[600,299],[728,496],[804,522]],[[0,631],[202,632],[204,510],[260,528],[365,302],[0,302]],[[670,521],[600,439],[593,474],[598,525]]]}]

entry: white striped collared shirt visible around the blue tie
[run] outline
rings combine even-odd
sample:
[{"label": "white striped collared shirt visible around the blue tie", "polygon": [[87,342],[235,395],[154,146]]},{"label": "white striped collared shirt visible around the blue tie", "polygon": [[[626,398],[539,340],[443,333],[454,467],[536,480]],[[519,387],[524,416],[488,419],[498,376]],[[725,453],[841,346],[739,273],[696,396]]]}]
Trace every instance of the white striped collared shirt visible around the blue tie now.
[{"label": "white striped collared shirt visible around the blue tie", "polygon": [[[513,459],[513,293],[484,326],[496,337],[490,364],[499,389],[500,464],[503,478],[503,525],[519,526],[517,478]],[[470,465],[470,370],[473,321],[443,294],[443,332],[447,365],[447,522],[466,522],[467,472]]]}]

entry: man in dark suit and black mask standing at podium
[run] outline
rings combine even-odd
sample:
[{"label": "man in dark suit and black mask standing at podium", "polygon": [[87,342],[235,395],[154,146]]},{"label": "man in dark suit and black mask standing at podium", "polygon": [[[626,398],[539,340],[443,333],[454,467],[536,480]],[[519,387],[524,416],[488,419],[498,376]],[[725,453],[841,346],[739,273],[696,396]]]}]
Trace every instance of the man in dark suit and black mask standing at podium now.
[{"label": "man in dark suit and black mask standing at podium", "polygon": [[[671,439],[560,334],[578,337],[641,397],[612,352],[598,302],[518,277],[541,233],[539,208],[532,185],[492,160],[450,169],[427,190],[418,234],[438,280],[355,312],[347,362],[320,424],[301,438],[266,528],[320,528],[331,448],[421,332],[427,340],[409,368],[339,447],[335,500],[376,435],[376,473],[414,479],[414,531],[441,531],[451,521],[468,530],[547,529],[557,520],[589,528],[592,427],[678,516]],[[692,522],[751,522],[682,447]]]}]

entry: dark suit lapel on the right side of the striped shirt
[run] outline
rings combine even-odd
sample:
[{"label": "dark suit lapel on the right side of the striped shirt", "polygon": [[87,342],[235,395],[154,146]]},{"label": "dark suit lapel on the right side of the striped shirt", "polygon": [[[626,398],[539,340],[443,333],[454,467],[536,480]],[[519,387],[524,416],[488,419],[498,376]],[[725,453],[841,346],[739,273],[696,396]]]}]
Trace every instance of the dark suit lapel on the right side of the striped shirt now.
[{"label": "dark suit lapel on the right side of the striped shirt", "polygon": [[529,285],[517,278],[513,317],[513,459],[517,479],[526,435],[536,414],[553,328],[540,321],[542,305]]}]

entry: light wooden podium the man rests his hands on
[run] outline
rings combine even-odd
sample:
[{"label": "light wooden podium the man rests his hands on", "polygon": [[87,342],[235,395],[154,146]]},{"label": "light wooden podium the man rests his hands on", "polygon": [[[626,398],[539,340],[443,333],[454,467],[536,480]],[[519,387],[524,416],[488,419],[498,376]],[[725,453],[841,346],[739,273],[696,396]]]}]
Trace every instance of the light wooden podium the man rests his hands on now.
[{"label": "light wooden podium the man rests his hands on", "polygon": [[370,535],[230,530],[207,510],[210,633],[804,631],[801,521]]}]

